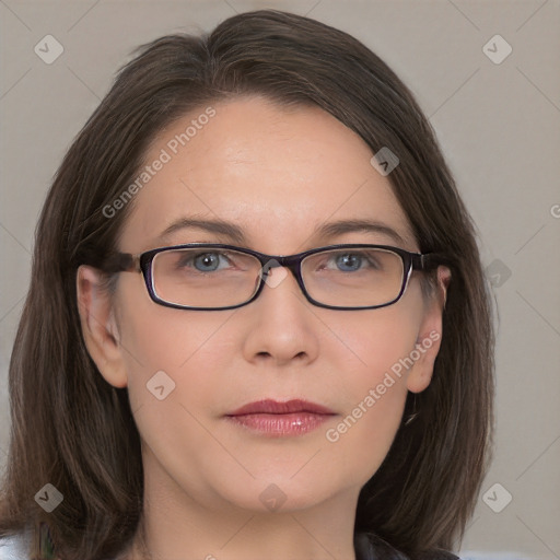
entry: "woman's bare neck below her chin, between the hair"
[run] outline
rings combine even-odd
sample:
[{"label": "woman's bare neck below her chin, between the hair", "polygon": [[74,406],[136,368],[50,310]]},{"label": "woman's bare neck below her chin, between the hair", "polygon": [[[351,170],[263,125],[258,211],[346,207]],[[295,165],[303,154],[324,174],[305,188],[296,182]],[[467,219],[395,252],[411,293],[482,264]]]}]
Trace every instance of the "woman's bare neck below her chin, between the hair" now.
[{"label": "woman's bare neck below her chin, between the hair", "polygon": [[[352,504],[355,509],[355,505]],[[144,508],[126,560],[355,560],[347,508],[180,516]],[[353,511],[353,510],[352,510]],[[179,521],[180,520],[180,521]]]}]

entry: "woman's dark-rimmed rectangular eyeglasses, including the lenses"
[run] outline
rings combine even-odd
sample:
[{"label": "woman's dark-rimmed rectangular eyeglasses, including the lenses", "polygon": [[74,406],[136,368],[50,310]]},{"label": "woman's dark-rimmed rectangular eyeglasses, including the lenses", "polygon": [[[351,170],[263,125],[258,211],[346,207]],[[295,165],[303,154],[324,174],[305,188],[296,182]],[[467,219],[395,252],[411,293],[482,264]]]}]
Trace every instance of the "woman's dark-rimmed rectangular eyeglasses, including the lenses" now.
[{"label": "woman's dark-rimmed rectangular eyeglasses, including the lenses", "polygon": [[[140,255],[117,253],[107,272],[142,272],[150,298],[179,310],[233,310],[255,301],[265,283],[288,268],[307,301],[330,310],[374,310],[396,303],[412,270],[427,271],[441,256],[387,245],[329,245],[296,255],[265,255],[233,245],[190,243]],[[277,276],[279,275],[279,276]]]}]

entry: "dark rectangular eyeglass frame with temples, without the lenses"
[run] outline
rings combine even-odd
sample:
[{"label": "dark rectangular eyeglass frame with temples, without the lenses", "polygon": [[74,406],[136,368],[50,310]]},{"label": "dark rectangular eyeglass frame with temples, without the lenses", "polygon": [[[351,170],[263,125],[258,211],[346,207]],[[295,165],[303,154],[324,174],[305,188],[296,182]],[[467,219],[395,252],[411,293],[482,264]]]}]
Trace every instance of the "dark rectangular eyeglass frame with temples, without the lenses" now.
[{"label": "dark rectangular eyeglass frame with temples, without the lenses", "polygon": [[[230,249],[236,250],[238,253],[243,253],[246,255],[252,255],[256,257],[261,265],[261,273],[260,273],[260,283],[253,294],[253,296],[246,302],[236,304],[236,305],[228,305],[224,307],[192,307],[189,305],[180,305],[177,303],[167,302],[162,300],[156,293],[153,285],[153,275],[152,275],[152,262],[155,256],[160,253],[164,253],[167,250],[177,250],[177,249],[187,249],[187,248],[202,248],[202,249]],[[320,303],[317,300],[314,300],[307,292],[305,288],[305,283],[302,277],[302,261],[311,256],[316,255],[317,253],[324,253],[332,249],[353,249],[353,248],[371,248],[371,249],[384,249],[398,255],[402,260],[402,283],[400,287],[400,291],[396,298],[387,303],[383,303],[381,305],[371,305],[371,306],[359,306],[359,307],[348,307],[348,306],[336,306],[328,305],[326,303]],[[409,250],[402,249],[400,247],[393,247],[390,245],[373,245],[373,244],[338,244],[338,245],[327,245],[324,247],[316,247],[313,249],[304,250],[303,253],[298,253],[295,255],[266,255],[265,253],[259,253],[257,250],[253,250],[246,247],[237,247],[235,245],[226,245],[222,243],[188,243],[185,245],[173,245],[167,247],[158,247],[154,249],[147,250],[144,253],[140,253],[138,255],[132,255],[130,253],[116,253],[112,256],[112,258],[107,259],[105,266],[103,267],[106,272],[142,272],[145,288],[148,289],[148,293],[154,303],[160,305],[164,305],[166,307],[173,307],[176,310],[192,310],[192,311],[225,311],[225,310],[235,310],[237,307],[243,307],[244,305],[248,305],[254,302],[262,291],[266,282],[266,276],[270,268],[275,267],[285,267],[288,268],[292,275],[295,277],[298,284],[300,285],[301,291],[305,295],[306,300],[313,305],[317,305],[318,307],[325,307],[328,310],[340,310],[340,311],[358,311],[358,310],[376,310],[380,307],[386,307],[388,305],[393,305],[397,303],[400,298],[402,298],[412,273],[412,270],[419,271],[429,271],[433,268],[436,268],[439,265],[445,262],[445,258],[443,255],[436,253],[411,253]]]}]

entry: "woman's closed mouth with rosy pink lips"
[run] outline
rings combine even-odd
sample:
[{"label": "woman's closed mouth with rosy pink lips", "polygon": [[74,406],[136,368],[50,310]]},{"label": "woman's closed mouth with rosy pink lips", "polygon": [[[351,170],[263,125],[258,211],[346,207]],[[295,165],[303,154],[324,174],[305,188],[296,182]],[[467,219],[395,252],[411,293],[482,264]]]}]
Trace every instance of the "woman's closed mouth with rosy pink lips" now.
[{"label": "woman's closed mouth with rosy pink lips", "polygon": [[336,416],[332,410],[306,400],[277,401],[272,399],[249,402],[225,415],[232,423],[254,433],[272,438],[308,433]]}]

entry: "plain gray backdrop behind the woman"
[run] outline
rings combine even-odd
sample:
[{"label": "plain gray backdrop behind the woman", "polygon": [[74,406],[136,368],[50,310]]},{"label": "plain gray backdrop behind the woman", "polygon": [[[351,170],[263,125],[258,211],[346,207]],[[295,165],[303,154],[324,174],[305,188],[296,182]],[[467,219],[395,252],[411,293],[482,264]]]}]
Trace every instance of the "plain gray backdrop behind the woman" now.
[{"label": "plain gray backdrop behind the woman", "polygon": [[[0,466],[10,429],[8,364],[34,228],[72,138],[133,47],[172,32],[210,31],[235,12],[265,7],[357,36],[395,69],[430,117],[478,225],[500,317],[494,460],[463,557],[502,551],[500,558],[559,559],[558,0],[0,0]],[[65,49],[51,65],[34,51],[48,34]],[[500,63],[483,51],[497,34],[513,49]],[[495,59],[505,48],[493,40],[486,50]],[[506,492],[513,499],[503,508]]]}]

